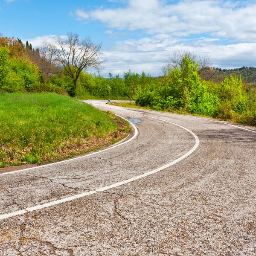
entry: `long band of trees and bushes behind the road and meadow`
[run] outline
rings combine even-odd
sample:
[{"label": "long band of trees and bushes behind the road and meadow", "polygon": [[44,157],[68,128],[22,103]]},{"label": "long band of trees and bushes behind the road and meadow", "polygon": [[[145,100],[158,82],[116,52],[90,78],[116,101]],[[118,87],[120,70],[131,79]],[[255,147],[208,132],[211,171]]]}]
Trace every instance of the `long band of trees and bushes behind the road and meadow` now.
[{"label": "long band of trees and bushes behind the road and meadow", "polygon": [[[68,37],[78,40],[76,34]],[[83,42],[99,53],[100,44],[92,44],[89,39]],[[63,41],[59,43],[63,47]],[[54,92],[78,99],[134,99],[137,105],[154,110],[256,125],[254,67],[221,70],[210,67],[207,58],[198,61],[191,52],[180,51],[169,55],[169,62],[163,65],[159,77],[128,70],[122,76],[109,73],[104,78],[99,69],[91,73],[86,67],[77,67],[76,62],[60,64],[56,56],[58,52],[56,55],[56,50],[47,43],[34,49],[28,41],[24,45],[18,38],[0,35],[0,92]],[[104,62],[99,60],[97,57],[96,67]]]}]

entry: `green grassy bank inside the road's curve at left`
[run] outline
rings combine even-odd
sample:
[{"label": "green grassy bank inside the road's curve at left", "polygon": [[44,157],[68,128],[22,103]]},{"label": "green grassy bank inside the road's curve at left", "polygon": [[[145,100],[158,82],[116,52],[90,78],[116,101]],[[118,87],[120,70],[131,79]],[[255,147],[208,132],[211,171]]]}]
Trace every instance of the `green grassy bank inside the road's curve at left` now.
[{"label": "green grassy bank inside the road's curve at left", "polygon": [[128,123],[54,93],[0,95],[0,167],[44,163],[125,137]]}]

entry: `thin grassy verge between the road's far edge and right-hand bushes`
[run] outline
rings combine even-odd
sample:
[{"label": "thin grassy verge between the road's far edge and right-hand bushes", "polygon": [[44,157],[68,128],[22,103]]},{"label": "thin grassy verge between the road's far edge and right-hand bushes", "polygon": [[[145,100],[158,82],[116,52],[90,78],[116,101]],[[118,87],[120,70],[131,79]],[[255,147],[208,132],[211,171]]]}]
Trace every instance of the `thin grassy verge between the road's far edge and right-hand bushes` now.
[{"label": "thin grassy verge between the road's far edge and right-hand bushes", "polygon": [[[113,103],[110,103],[113,105]],[[138,109],[145,109],[145,110],[153,110],[150,107],[141,107],[140,105],[136,105],[135,103],[128,103],[128,102],[115,102],[116,106],[120,106],[120,107],[125,107],[125,108],[138,108]],[[190,115],[190,116],[202,116],[202,117],[207,117],[207,118],[212,118],[212,116],[206,116],[206,115],[201,115],[201,114],[192,114],[192,113],[188,113],[186,111],[178,111],[178,110],[173,110],[173,109],[168,109],[168,110],[163,110],[160,112],[169,112],[169,113],[176,113],[176,114],[183,114],[183,115]],[[233,118],[216,118],[218,120],[224,120],[224,121],[229,121],[229,122],[236,122],[239,124],[243,124],[243,125],[250,125],[250,126],[256,126],[256,123],[253,119],[251,119],[250,117],[248,117],[247,115],[242,115],[242,114],[238,114],[236,113],[236,116]]]}]

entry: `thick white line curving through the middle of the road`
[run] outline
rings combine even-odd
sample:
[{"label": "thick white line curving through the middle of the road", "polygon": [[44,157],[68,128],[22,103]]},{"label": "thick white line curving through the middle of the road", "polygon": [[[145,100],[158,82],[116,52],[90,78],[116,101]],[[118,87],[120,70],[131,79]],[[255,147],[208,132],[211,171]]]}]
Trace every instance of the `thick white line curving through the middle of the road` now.
[{"label": "thick white line curving through the middle of the road", "polygon": [[[146,115],[143,115],[143,116],[146,116]],[[159,119],[159,118],[155,118],[155,117],[151,117],[151,116],[147,116],[147,117],[150,117],[150,118],[153,118],[153,119],[157,119],[157,120],[160,120],[160,121],[163,121],[163,122],[168,122],[168,123],[173,124],[173,125],[177,125],[175,123],[172,123],[172,122],[169,122],[169,121],[166,121],[166,120],[163,120],[163,119]],[[43,208],[51,207],[51,206],[56,205],[56,204],[62,204],[64,202],[72,201],[74,199],[81,198],[81,197],[84,197],[84,196],[87,196],[87,195],[92,195],[92,194],[95,194],[97,192],[103,192],[103,191],[106,191],[108,189],[113,189],[115,187],[122,186],[122,185],[124,185],[126,183],[130,183],[130,182],[132,182],[134,180],[139,180],[139,179],[141,179],[143,177],[147,177],[148,175],[152,175],[152,174],[154,174],[156,172],[159,172],[159,171],[161,171],[163,169],[166,169],[166,168],[174,165],[175,163],[180,162],[181,160],[183,160],[184,158],[189,156],[192,152],[194,152],[198,148],[198,145],[199,145],[200,141],[199,141],[198,137],[192,131],[190,131],[189,129],[187,129],[187,128],[181,126],[181,125],[177,125],[177,126],[180,127],[180,128],[183,128],[184,130],[188,131],[190,134],[192,134],[194,136],[194,138],[195,138],[195,145],[186,154],[183,154],[181,157],[177,158],[176,160],[172,161],[171,163],[168,163],[168,164],[166,164],[164,166],[161,166],[161,167],[159,167],[157,169],[154,169],[154,170],[152,170],[150,172],[146,172],[144,174],[132,177],[132,178],[130,178],[128,180],[123,180],[123,181],[114,183],[114,184],[112,184],[110,186],[105,186],[105,187],[102,187],[102,188],[99,188],[99,189],[91,190],[89,192],[84,192],[84,193],[73,195],[73,196],[70,196],[70,197],[67,197],[67,198],[55,200],[55,201],[52,201],[52,202],[49,202],[49,203],[46,203],[46,204],[37,205],[35,207],[28,207],[28,208],[22,209],[20,211],[10,212],[10,213],[7,213],[7,214],[3,214],[3,215],[0,215],[0,219],[10,218],[10,217],[13,217],[13,216],[16,216],[16,215],[21,215],[21,214],[24,214],[24,213],[27,213],[27,212],[32,212],[32,211],[35,211],[35,210],[38,210],[38,209],[43,209]],[[137,131],[136,127],[135,127],[135,129],[136,129],[135,131]],[[137,136],[137,134],[136,134],[136,136]],[[130,141],[130,140],[128,140],[128,141]],[[127,143],[128,141],[126,141],[125,143]]]}]

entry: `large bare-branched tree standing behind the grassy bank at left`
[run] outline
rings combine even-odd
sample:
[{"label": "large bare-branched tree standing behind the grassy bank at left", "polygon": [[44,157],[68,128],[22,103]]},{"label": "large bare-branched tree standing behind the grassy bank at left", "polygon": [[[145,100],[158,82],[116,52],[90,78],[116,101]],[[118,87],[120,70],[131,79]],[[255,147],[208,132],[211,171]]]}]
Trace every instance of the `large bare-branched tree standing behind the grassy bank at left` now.
[{"label": "large bare-branched tree standing behind the grassy bank at left", "polygon": [[56,37],[50,45],[55,62],[63,67],[64,75],[74,82],[73,93],[76,95],[76,84],[82,70],[100,70],[105,59],[102,58],[102,43],[94,43],[90,37],[80,40],[79,35],[68,32],[66,37]]}]

